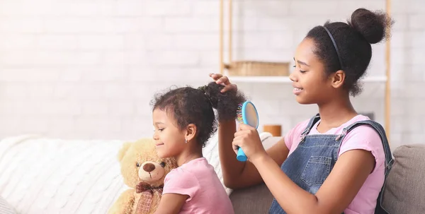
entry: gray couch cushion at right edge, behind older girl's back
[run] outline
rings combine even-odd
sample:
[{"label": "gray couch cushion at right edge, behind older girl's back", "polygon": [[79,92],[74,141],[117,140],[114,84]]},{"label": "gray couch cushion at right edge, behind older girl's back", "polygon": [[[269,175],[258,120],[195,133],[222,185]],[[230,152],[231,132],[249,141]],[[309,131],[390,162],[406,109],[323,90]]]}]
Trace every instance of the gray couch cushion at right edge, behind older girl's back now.
[{"label": "gray couch cushion at right edge, behind older girl's back", "polygon": [[383,193],[383,207],[392,213],[425,213],[425,145],[402,145]]}]

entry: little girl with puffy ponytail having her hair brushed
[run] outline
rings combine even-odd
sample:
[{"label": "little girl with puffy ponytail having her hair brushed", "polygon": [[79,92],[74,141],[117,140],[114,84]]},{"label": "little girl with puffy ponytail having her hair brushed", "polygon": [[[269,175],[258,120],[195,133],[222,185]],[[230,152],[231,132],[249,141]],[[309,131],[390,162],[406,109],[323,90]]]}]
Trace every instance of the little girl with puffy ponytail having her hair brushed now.
[{"label": "little girl with puffy ponytail having her hair brushed", "polygon": [[153,100],[157,154],[175,157],[179,165],[164,179],[156,213],[234,213],[214,168],[202,154],[217,130],[212,108],[217,109],[219,119],[236,119],[237,105],[244,101],[234,90],[220,93],[222,88],[214,82],[198,89],[177,88]]}]

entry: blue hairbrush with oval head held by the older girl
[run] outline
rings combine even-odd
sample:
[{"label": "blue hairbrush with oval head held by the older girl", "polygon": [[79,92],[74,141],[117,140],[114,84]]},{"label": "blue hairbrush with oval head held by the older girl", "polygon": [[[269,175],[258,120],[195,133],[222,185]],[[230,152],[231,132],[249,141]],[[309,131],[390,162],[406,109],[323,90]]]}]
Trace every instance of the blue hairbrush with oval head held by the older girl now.
[{"label": "blue hairbrush with oval head held by the older girl", "polygon": [[[244,103],[239,104],[239,107],[237,108],[237,121],[239,121],[239,123],[252,126],[255,129],[259,128],[259,113],[256,111],[256,107],[252,102],[245,101]],[[246,161],[247,157],[242,148],[237,150],[236,158],[239,161]]]}]

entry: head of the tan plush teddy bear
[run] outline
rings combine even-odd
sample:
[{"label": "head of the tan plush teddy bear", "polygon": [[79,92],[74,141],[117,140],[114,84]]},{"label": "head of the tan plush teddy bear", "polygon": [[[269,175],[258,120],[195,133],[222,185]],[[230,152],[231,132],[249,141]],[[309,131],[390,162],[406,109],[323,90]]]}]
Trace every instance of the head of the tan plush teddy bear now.
[{"label": "head of the tan plush teddy bear", "polygon": [[131,188],[136,188],[141,182],[153,187],[161,186],[166,174],[177,167],[174,158],[157,156],[155,143],[151,138],[124,143],[118,153],[118,160],[124,182]]}]

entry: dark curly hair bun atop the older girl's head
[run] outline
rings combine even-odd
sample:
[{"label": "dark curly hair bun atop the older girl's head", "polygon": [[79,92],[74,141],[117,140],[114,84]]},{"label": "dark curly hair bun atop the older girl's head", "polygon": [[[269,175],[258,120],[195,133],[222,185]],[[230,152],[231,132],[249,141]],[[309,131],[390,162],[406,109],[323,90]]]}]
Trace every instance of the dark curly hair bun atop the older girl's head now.
[{"label": "dark curly hair bun atop the older girl's head", "polygon": [[388,38],[387,28],[391,27],[392,20],[386,13],[372,12],[365,8],[358,8],[351,14],[351,20],[348,22],[354,29],[365,37],[370,44],[380,42]]}]

